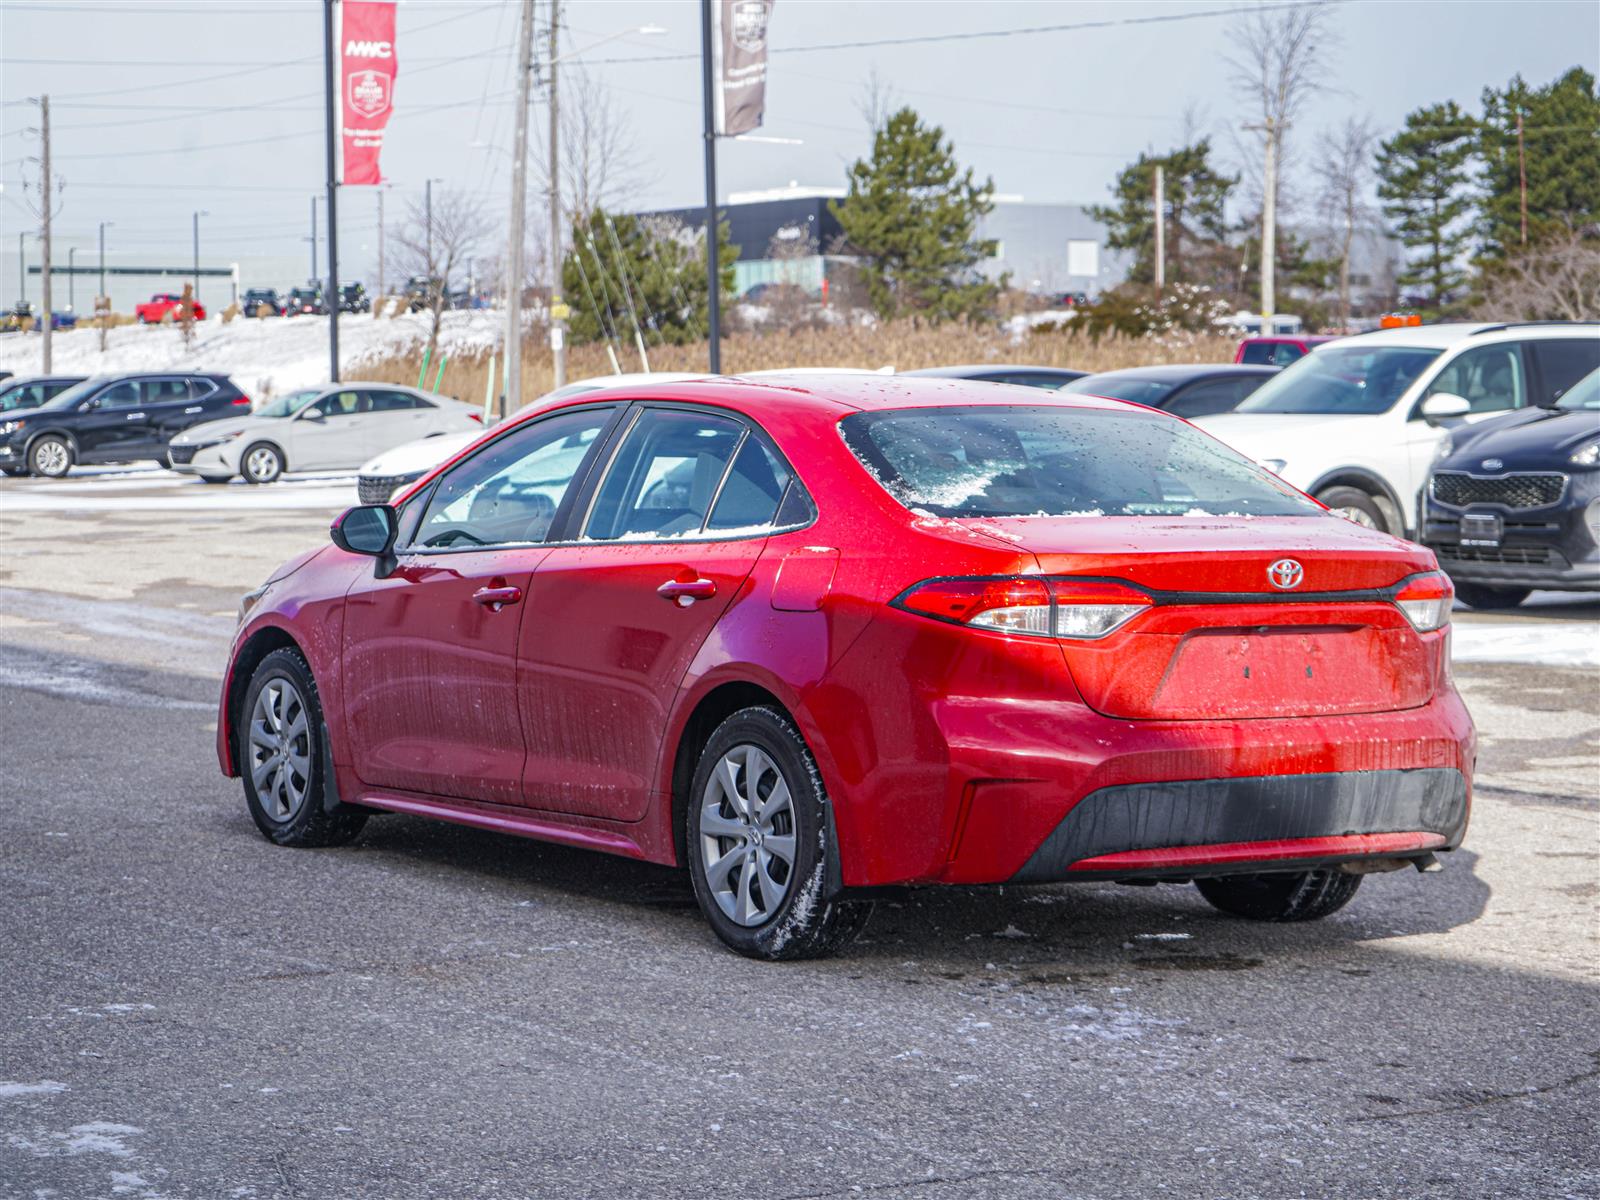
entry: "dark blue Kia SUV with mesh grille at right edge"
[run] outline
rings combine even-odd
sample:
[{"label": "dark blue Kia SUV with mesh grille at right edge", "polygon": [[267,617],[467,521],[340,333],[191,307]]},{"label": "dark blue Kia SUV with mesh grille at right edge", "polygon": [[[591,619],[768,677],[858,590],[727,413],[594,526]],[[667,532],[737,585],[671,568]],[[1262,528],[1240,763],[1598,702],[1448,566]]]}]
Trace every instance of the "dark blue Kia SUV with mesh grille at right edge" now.
[{"label": "dark blue Kia SUV with mesh grille at right edge", "polygon": [[1600,592],[1600,371],[1550,408],[1446,432],[1422,514],[1422,542],[1474,608]]}]

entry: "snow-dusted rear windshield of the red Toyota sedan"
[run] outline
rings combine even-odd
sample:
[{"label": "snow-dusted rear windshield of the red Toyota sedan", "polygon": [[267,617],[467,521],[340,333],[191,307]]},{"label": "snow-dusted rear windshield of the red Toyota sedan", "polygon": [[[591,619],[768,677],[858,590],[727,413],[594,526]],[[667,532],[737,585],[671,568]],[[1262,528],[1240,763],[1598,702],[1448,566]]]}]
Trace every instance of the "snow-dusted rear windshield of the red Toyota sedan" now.
[{"label": "snow-dusted rear windshield of the red Toyota sedan", "polygon": [[1315,504],[1200,430],[1064,406],[854,413],[845,443],[894,499],[934,517],[1312,517]]}]

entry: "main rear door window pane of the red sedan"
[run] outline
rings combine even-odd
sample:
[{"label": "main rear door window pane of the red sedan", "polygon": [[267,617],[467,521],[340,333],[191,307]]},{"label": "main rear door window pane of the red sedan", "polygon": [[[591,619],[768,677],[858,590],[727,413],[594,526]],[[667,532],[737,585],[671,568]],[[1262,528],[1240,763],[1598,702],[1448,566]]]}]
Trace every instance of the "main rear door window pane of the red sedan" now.
[{"label": "main rear door window pane of the red sedan", "polygon": [[744,426],[722,416],[645,410],[595,494],[584,538],[651,541],[701,531]]}]

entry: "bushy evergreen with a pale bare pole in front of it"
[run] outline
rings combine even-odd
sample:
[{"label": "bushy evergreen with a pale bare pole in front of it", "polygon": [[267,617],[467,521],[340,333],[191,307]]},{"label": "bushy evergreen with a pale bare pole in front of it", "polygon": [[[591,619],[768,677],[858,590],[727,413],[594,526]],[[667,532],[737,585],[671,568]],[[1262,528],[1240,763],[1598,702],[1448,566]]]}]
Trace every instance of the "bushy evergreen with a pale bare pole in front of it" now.
[{"label": "bushy evergreen with a pale bare pole in front of it", "polygon": [[[1227,238],[1222,206],[1238,176],[1211,166],[1211,139],[1168,154],[1141,154],[1112,184],[1114,205],[1085,211],[1107,229],[1106,245],[1134,254],[1128,280],[1155,282],[1155,168],[1162,166],[1166,200],[1166,282],[1216,283],[1216,250]],[[1202,253],[1211,251],[1211,253]]]}]

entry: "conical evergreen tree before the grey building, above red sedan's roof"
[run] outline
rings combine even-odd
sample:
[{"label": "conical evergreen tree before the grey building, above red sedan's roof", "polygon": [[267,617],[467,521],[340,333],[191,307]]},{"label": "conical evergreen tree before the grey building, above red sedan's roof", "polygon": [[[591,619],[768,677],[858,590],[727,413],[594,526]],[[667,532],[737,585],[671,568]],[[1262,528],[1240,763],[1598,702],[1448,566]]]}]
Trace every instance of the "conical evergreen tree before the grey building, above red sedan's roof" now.
[{"label": "conical evergreen tree before the grey building, above red sedan's roof", "polygon": [[829,208],[845,230],[848,253],[864,259],[872,307],[882,317],[931,320],[987,315],[1000,283],[978,264],[998,243],[979,238],[978,218],[994,205],[994,181],[973,182],[957,165],[944,130],[923,125],[912,109],[893,114],[872,138],[872,158],[850,168],[850,194]]}]

